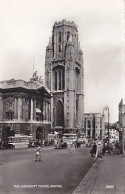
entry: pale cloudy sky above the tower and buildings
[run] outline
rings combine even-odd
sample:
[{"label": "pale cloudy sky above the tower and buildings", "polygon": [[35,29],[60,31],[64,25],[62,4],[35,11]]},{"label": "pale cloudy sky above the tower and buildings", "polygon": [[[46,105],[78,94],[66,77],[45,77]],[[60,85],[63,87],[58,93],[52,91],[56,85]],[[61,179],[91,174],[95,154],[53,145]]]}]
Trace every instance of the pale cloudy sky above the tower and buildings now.
[{"label": "pale cloudy sky above the tower and buildings", "polygon": [[78,26],[84,112],[102,113],[108,105],[116,122],[125,98],[123,0],[0,0],[0,80],[29,81],[33,70],[44,77],[52,27],[63,19]]}]

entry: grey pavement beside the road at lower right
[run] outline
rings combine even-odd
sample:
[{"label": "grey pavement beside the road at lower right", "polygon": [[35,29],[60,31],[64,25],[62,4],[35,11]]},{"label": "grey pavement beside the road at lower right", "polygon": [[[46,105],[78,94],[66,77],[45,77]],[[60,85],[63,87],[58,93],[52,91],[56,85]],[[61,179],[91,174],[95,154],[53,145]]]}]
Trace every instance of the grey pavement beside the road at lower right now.
[{"label": "grey pavement beside the road at lower right", "polygon": [[125,155],[96,160],[73,194],[125,194]]}]

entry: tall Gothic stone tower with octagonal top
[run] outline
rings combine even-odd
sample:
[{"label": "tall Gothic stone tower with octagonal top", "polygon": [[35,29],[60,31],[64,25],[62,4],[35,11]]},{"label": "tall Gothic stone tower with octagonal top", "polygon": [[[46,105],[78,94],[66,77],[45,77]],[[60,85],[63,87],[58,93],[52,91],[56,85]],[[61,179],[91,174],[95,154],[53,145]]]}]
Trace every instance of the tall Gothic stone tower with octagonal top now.
[{"label": "tall Gothic stone tower with octagonal top", "polygon": [[51,91],[52,128],[65,132],[83,129],[83,53],[74,22],[55,22],[46,48],[45,84]]}]

